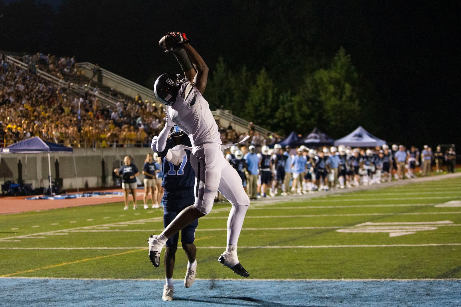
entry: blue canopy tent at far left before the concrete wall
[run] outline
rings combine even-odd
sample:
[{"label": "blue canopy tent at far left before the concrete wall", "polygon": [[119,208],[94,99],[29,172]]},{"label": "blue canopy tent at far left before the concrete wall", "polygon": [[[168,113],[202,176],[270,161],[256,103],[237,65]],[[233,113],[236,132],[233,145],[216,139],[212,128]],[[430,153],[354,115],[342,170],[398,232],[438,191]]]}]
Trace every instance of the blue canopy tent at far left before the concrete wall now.
[{"label": "blue canopy tent at far left before the concrete wall", "polygon": [[50,153],[72,153],[74,160],[74,169],[75,169],[75,180],[77,184],[78,192],[78,183],[77,183],[77,167],[75,166],[75,156],[73,155],[73,148],[66,147],[63,145],[58,145],[50,142],[46,142],[40,139],[38,136],[35,136],[30,139],[25,139],[18,143],[14,143],[7,147],[0,148],[0,160],[2,154],[26,154],[26,174],[27,177],[27,154],[31,153],[47,153],[48,154],[48,179],[50,182],[50,193],[53,191],[51,183],[51,163],[50,163]]}]

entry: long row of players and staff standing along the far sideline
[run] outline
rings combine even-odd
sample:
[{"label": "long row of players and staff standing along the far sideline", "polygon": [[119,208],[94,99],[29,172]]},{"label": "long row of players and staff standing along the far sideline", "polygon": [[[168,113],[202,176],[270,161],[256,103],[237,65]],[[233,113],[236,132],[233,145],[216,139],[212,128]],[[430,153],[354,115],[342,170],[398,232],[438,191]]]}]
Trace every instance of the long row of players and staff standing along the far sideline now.
[{"label": "long row of players and staff standing along the far sideline", "polygon": [[422,151],[386,144],[368,149],[344,145],[292,149],[276,144],[274,149],[263,145],[260,151],[254,145],[233,146],[226,158],[252,199],[381,184],[456,169],[453,148],[442,151],[437,146],[433,152],[427,145]]}]

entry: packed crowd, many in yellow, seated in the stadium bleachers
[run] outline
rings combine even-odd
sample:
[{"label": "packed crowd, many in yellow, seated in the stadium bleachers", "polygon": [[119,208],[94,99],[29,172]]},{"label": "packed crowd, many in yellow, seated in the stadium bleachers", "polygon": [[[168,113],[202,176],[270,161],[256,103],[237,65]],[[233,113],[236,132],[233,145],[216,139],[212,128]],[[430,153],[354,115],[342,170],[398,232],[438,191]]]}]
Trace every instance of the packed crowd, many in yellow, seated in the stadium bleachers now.
[{"label": "packed crowd, many in yellow, seated in the stadium bleachers", "polygon": [[66,146],[148,146],[162,128],[162,111],[152,103],[121,98],[114,106],[103,106],[92,91],[73,93],[66,82],[53,84],[32,69],[64,76],[75,73],[74,60],[37,55],[26,60],[30,65],[25,70],[8,63],[2,54],[0,58],[4,146],[33,136]]}]

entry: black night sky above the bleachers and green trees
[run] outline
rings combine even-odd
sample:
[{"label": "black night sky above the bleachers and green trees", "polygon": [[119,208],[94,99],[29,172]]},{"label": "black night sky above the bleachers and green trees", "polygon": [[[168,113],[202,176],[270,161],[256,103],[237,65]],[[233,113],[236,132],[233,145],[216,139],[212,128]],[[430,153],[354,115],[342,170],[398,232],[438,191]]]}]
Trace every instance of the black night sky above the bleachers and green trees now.
[{"label": "black night sky above the bleachers and green trees", "polygon": [[[3,0],[4,5],[9,2],[12,0]],[[41,2],[51,3],[56,12],[61,3]],[[135,2],[130,6],[131,1],[80,0],[82,7],[74,8],[80,26],[75,29],[69,20],[73,28],[67,29],[71,32],[67,43],[56,46],[50,39],[46,46],[40,46],[43,50],[28,52],[75,54],[77,61],[98,63],[151,87],[156,76],[177,70],[174,58],[157,45],[167,31],[186,32],[211,70],[219,56],[236,70],[242,65],[260,70],[268,62],[262,54],[265,51],[257,46],[266,33],[254,29],[254,24],[264,20],[266,10],[300,15],[299,1],[259,1],[267,4],[266,10],[258,6],[255,11],[251,11],[253,1]],[[239,4],[245,7],[236,8]],[[301,15],[307,19],[315,15],[321,25],[315,39],[319,53],[332,57],[343,46],[361,77],[372,84],[380,110],[376,121],[382,127],[377,136],[388,143],[421,148],[424,144],[461,146],[460,35],[456,30],[460,28],[460,12],[455,1],[328,0],[315,12]],[[285,35],[285,28],[280,24],[279,35]],[[296,24],[290,29],[309,30],[297,29]],[[0,50],[23,51],[11,49],[13,43],[8,45],[0,45]],[[386,127],[396,128],[387,131]]]}]

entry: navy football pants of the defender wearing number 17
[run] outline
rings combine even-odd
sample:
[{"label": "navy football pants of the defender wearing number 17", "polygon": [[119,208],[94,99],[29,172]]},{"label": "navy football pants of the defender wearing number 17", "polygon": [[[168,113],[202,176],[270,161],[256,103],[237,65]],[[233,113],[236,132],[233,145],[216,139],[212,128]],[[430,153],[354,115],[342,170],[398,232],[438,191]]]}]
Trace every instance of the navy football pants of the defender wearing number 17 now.
[{"label": "navy football pants of the defender wearing number 17", "polygon": [[[194,187],[191,187],[187,190],[184,190],[183,193],[163,194],[163,226],[168,226],[172,220],[183,211],[186,207],[193,205],[195,203],[194,197]],[[183,244],[192,244],[195,241],[195,228],[197,228],[199,220],[194,220],[188,226],[185,226],[181,230],[181,243]],[[166,241],[166,246],[176,247],[177,241],[179,239],[179,232],[171,236],[168,241]]]}]

